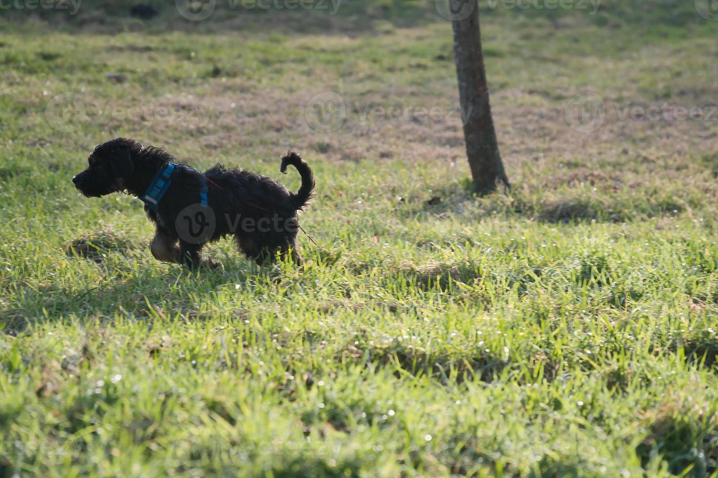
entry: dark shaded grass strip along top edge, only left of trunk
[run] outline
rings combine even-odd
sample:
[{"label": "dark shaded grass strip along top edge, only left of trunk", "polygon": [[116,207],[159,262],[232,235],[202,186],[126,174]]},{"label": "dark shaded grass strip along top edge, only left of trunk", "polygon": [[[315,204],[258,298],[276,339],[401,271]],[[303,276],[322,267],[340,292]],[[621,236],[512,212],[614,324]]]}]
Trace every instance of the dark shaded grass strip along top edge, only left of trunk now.
[{"label": "dark shaded grass strip along top edge, only left of trunk", "polygon": [[[137,1],[97,1],[73,13],[72,9],[6,10],[8,21],[21,28],[32,28],[37,21],[53,29],[86,33],[187,32],[271,32],[276,34],[322,34],[345,37],[363,32],[386,32],[387,29],[415,27],[427,22],[448,21],[439,16],[433,1],[216,1],[204,2],[207,9],[190,10],[182,1],[149,1],[152,13],[136,14]],[[289,2],[291,3],[291,2]],[[202,3],[195,2],[197,6]],[[279,8],[276,6],[279,5]],[[306,6],[305,6],[306,5]],[[211,13],[210,13],[211,12]]]}]

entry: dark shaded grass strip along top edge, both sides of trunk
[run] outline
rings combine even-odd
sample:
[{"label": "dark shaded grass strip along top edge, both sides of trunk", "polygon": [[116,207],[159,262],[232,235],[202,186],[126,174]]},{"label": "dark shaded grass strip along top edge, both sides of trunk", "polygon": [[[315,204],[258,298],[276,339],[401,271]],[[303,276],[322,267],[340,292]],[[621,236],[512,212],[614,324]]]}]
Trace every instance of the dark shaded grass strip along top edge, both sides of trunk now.
[{"label": "dark shaded grass strip along top edge, both sides of trunk", "polygon": [[[521,16],[543,21],[551,30],[564,27],[562,20],[578,18],[598,27],[651,26],[676,29],[708,24],[693,2],[676,4],[667,0],[643,0],[640,4],[622,0],[604,0],[597,11],[590,9],[519,9],[496,8],[480,4],[486,21]],[[70,4],[70,2],[67,2]],[[190,4],[194,5],[191,9]],[[346,36],[364,32],[380,33],[391,28],[444,22],[449,12],[444,3],[434,0],[322,0],[309,2],[188,0],[98,0],[80,8],[29,9],[15,4],[4,11],[9,21],[22,23],[37,19],[57,29],[86,30],[95,33],[146,31],[158,32],[237,32],[239,30],[287,33],[314,33]],[[69,5],[67,5],[69,7]],[[206,7],[206,8],[205,8]],[[661,39],[661,35],[656,35]]]}]

